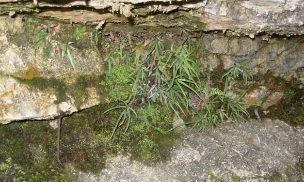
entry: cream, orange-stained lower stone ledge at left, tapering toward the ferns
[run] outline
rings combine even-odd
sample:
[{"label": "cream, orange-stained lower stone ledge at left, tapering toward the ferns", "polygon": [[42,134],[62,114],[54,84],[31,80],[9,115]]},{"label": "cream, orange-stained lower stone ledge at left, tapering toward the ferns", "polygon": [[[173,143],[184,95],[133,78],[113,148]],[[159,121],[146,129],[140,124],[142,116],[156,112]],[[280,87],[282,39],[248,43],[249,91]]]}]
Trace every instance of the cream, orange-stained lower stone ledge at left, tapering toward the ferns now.
[{"label": "cream, orange-stained lower stone ledge at left, tapering toward the ferns", "polygon": [[[71,114],[104,102],[95,88],[85,90],[86,97],[67,95],[66,101],[57,104],[58,98],[51,92],[24,84],[11,76],[0,76],[0,123],[52,119],[60,113]],[[81,99],[80,108],[76,106],[77,99]]]}]

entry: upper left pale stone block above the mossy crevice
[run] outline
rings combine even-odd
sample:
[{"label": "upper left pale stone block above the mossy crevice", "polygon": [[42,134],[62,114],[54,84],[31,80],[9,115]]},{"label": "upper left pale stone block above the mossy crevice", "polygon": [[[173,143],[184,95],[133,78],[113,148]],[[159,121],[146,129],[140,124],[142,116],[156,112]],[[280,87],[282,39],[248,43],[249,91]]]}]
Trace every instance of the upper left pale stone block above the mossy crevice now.
[{"label": "upper left pale stone block above the mossy crevice", "polygon": [[[32,70],[36,72],[34,76],[42,77],[64,77],[71,75],[96,74],[102,75],[104,72],[103,61],[100,58],[98,50],[90,47],[81,47],[71,50],[74,63],[78,69],[76,73],[68,59],[65,56],[62,63],[58,55],[51,49],[40,46],[35,50],[31,46],[32,40],[25,40],[16,45],[12,42],[13,37],[23,31],[21,18],[0,18],[0,74],[21,76],[23,73]],[[8,31],[9,30],[9,31]],[[10,32],[14,30],[14,32]],[[22,32],[26,34],[26,32]],[[28,32],[29,33],[29,32]],[[10,40],[9,40],[10,39]],[[31,41],[31,42],[26,42]],[[21,76],[22,77],[22,76]]]}]

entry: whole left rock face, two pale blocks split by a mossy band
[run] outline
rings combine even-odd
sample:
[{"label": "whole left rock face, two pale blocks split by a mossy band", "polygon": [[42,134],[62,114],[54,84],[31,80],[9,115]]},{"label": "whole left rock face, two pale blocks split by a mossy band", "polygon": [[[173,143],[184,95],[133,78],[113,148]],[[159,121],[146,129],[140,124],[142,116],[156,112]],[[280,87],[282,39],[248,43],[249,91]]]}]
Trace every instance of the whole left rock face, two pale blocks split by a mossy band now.
[{"label": "whole left rock face, two pale blocks split by a mossy band", "polygon": [[35,50],[24,27],[19,17],[0,17],[0,123],[50,119],[106,102],[98,87],[104,66],[96,48],[71,50],[75,72],[51,46]]}]

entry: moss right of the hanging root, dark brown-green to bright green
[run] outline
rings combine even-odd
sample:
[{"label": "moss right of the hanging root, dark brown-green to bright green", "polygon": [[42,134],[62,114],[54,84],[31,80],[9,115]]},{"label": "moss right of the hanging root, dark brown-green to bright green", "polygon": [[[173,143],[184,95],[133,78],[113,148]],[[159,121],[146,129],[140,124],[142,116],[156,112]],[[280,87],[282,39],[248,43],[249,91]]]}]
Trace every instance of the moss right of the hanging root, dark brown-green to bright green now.
[{"label": "moss right of the hanging root, dark brown-green to bright green", "polygon": [[[165,133],[171,125],[171,112],[162,106],[146,105],[144,112],[136,108],[139,118],[117,129],[109,140],[119,111],[104,115],[110,106],[95,106],[64,118],[62,126],[62,161],[72,161],[82,171],[95,171],[104,166],[105,152],[130,152],[132,158],[151,164],[168,156],[175,133]],[[154,119],[156,117],[156,119]],[[153,120],[152,120],[153,118]],[[147,121],[151,120],[151,122]],[[146,123],[149,123],[146,125]],[[164,154],[164,152],[167,153]]]}]

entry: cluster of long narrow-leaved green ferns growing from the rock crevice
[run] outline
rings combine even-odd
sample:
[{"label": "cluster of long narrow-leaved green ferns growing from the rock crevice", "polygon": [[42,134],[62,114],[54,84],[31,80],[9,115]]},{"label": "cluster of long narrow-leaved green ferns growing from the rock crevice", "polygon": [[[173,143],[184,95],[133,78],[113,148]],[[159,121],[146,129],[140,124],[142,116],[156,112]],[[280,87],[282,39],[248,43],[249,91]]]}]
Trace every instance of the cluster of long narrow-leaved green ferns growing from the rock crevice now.
[{"label": "cluster of long narrow-leaved green ferns growing from the rock crevice", "polygon": [[[232,91],[228,91],[227,87],[224,91],[217,86],[211,88],[210,78],[203,78],[205,73],[191,58],[194,48],[190,38],[186,38],[178,47],[173,43],[170,49],[164,50],[164,48],[161,40],[146,40],[132,44],[121,42],[119,47],[109,53],[104,60],[109,65],[108,73],[114,73],[123,65],[128,65],[133,70],[130,75],[126,75],[128,78],[128,84],[124,86],[126,89],[111,95],[113,101],[118,101],[122,105],[105,111],[106,113],[121,109],[121,115],[110,138],[125,121],[127,121],[125,131],[127,132],[132,113],[135,118],[137,117],[132,106],[146,102],[160,103],[163,108],[172,109],[178,116],[179,112],[185,115],[197,115],[196,120],[174,126],[171,130],[185,124],[194,124],[193,127],[199,124],[198,131],[201,131],[205,125],[212,128],[219,119],[246,120],[242,114],[249,117],[248,111],[242,106],[249,103],[240,101],[244,94],[240,97],[229,96],[228,93]],[[244,69],[247,63],[248,61],[240,62],[240,66],[237,64],[237,68],[229,70],[223,76],[229,78],[227,84],[237,77],[236,70]],[[247,78],[252,77],[249,69],[242,73],[243,75],[247,73],[249,75]],[[245,81],[247,82],[247,79]],[[189,93],[194,95],[192,100],[188,98]],[[194,106],[193,103],[199,106]]]}]

